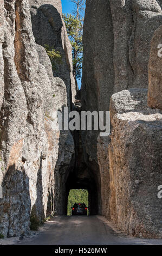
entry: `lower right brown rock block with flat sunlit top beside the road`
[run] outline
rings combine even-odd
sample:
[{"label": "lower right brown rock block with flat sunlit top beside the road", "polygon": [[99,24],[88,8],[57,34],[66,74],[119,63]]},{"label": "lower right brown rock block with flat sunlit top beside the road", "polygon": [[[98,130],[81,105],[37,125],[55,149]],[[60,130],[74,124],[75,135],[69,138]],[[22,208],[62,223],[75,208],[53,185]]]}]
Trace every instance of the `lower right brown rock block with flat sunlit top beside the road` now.
[{"label": "lower right brown rock block with flat sunlit top beside the road", "polygon": [[112,96],[111,136],[98,139],[102,214],[127,234],[162,237],[162,114],[147,107],[146,95],[130,89]]}]

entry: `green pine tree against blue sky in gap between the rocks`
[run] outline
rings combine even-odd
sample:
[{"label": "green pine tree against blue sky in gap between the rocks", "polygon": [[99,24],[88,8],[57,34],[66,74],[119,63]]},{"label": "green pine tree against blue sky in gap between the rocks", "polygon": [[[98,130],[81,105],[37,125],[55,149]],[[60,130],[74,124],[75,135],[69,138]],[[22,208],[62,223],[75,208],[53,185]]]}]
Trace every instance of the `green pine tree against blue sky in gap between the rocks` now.
[{"label": "green pine tree against blue sky in gap between the rocks", "polygon": [[73,48],[73,74],[75,78],[81,78],[83,60],[83,19],[80,17],[77,18],[72,14],[63,14],[63,20]]}]

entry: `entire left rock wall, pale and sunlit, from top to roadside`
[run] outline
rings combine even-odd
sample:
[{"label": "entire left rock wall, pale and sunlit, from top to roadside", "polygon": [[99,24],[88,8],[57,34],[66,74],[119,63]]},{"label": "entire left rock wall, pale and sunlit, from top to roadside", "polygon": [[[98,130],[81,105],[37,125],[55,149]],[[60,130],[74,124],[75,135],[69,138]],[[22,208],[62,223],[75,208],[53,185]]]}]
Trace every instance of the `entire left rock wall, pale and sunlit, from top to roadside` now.
[{"label": "entire left rock wall, pale and sunlit, from top to roadside", "polygon": [[[31,13],[41,8],[42,2],[32,1]],[[54,210],[54,194],[59,186],[55,176],[60,175],[63,162],[66,173],[74,160],[73,137],[69,131],[61,134],[56,130],[53,117],[62,106],[72,107],[72,49],[62,23],[61,2],[43,3],[55,9],[54,13],[43,9],[47,15],[60,22],[56,22],[51,35],[54,40],[57,38],[54,46],[62,51],[57,77],[41,46],[42,38],[39,41],[35,35],[38,44],[35,42],[33,31],[37,23],[32,30],[29,2],[0,3],[0,233],[4,236],[29,234],[33,209],[40,221]]]}]

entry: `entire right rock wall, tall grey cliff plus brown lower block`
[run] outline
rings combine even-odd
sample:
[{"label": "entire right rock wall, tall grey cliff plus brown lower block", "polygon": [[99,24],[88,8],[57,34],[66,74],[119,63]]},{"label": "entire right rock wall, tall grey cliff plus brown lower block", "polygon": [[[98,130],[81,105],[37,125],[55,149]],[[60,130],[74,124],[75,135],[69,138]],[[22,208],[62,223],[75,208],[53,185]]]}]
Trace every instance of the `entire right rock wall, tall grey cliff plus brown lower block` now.
[{"label": "entire right rock wall, tall grey cliff plus brown lower block", "polygon": [[82,109],[110,110],[112,131],[82,132],[83,155],[100,175],[101,214],[133,236],[161,237],[161,112],[147,105],[147,93],[148,102],[161,97],[160,67],[152,68],[161,7],[155,0],[86,1]]}]

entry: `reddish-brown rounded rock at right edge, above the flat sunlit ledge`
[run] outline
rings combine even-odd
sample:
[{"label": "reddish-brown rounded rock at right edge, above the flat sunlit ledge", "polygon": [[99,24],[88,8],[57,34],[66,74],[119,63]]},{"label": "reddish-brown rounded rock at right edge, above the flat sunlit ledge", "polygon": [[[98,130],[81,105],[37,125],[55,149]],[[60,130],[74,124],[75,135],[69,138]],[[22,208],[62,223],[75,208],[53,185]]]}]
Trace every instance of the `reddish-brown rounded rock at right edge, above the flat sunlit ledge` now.
[{"label": "reddish-brown rounded rock at right edge, above the flat sunlit ledge", "polygon": [[155,31],[151,41],[148,70],[148,106],[162,109],[162,26]]}]

